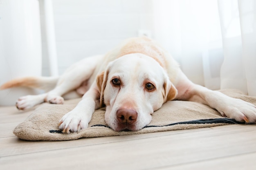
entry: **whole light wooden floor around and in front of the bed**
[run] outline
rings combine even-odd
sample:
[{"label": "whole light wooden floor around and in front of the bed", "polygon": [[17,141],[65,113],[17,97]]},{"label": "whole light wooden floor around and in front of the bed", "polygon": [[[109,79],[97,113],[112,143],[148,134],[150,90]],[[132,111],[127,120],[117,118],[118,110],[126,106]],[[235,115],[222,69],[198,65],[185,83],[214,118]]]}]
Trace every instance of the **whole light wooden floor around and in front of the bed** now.
[{"label": "whole light wooden floor around and in front of the bed", "polygon": [[0,170],[255,170],[256,125],[74,141],[24,141],[12,130],[29,112],[0,107]]}]

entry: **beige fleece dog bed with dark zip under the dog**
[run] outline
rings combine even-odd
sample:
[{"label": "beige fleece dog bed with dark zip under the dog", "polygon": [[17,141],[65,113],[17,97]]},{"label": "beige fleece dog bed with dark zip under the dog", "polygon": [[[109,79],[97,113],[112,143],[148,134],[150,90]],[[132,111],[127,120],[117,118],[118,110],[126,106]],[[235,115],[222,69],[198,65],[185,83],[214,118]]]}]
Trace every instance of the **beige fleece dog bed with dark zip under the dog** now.
[{"label": "beige fleece dog bed with dark zip under the dog", "polygon": [[[237,90],[226,89],[222,93],[256,104],[256,97],[247,96]],[[107,137],[117,135],[133,135],[167,130],[203,128],[225,124],[237,124],[234,119],[223,118],[216,110],[195,102],[171,101],[155,111],[151,123],[143,129],[115,132],[104,120],[103,109],[96,110],[92,115],[89,127],[79,133],[63,134],[58,129],[58,121],[65,113],[72,110],[79,99],[65,101],[63,105],[41,104],[13,133],[20,139],[31,141],[61,141],[88,137]]]}]

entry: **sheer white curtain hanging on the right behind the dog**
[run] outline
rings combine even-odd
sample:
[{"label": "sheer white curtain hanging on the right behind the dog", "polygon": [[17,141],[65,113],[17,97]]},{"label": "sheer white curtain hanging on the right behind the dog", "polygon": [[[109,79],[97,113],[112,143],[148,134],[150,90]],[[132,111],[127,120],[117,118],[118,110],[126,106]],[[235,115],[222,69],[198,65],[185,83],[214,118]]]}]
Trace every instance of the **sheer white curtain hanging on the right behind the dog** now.
[{"label": "sheer white curtain hanging on the right behind the dog", "polygon": [[256,96],[255,0],[153,0],[155,39],[195,83]]}]

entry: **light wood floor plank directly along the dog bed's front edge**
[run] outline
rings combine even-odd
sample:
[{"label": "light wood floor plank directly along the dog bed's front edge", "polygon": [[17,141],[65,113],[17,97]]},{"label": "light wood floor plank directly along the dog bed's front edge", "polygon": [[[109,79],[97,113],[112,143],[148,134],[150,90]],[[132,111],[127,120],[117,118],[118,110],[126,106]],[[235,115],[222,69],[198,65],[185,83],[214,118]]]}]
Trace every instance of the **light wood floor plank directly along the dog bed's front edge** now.
[{"label": "light wood floor plank directly along the dog bed's front edge", "polygon": [[42,152],[48,150],[56,150],[63,148],[75,148],[81,146],[91,146],[98,144],[115,143],[119,141],[130,141],[137,139],[146,139],[152,137],[168,136],[180,133],[190,133],[202,130],[211,130],[210,128],[198,128],[188,130],[173,130],[168,132],[155,132],[140,135],[113,136],[78,139],[74,141],[25,141],[17,137],[0,138],[0,157],[20,155],[33,152]]}]

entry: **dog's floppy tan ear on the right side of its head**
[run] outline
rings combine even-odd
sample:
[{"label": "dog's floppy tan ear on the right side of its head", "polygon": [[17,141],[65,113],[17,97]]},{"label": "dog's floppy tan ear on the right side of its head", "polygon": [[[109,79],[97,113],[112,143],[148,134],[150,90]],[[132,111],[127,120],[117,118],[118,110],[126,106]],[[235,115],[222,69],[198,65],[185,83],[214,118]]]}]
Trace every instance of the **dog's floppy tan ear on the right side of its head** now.
[{"label": "dog's floppy tan ear on the right side of its head", "polygon": [[169,78],[167,78],[166,81],[164,82],[164,91],[163,91],[164,103],[175,99],[177,94],[178,94],[177,89],[171,83]]}]

